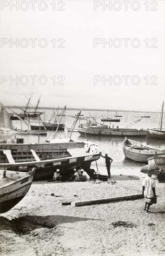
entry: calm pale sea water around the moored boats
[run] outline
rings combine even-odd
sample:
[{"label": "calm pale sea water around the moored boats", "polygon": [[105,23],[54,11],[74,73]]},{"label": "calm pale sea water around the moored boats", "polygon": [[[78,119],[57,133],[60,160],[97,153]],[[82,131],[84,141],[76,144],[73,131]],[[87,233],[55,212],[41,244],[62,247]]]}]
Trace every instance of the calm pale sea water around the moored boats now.
[{"label": "calm pale sea water around the moored boats", "polygon": [[[15,109],[17,112],[18,109]],[[39,109],[41,112],[45,112],[44,115],[41,115],[41,118],[43,121],[49,121],[51,117],[53,116],[53,111],[52,110],[43,110]],[[92,116],[95,117],[97,122],[101,122],[101,118],[103,117],[110,117],[110,118],[115,118],[114,115],[116,115],[116,112],[111,112],[107,113],[104,111],[90,111]],[[66,110],[66,127],[71,127],[73,124],[73,121],[75,120],[74,116],[78,114],[77,110]],[[82,111],[81,113],[84,115],[83,117],[90,116],[88,111]],[[114,124],[114,128],[118,125],[119,128],[125,128],[130,124],[133,124],[130,126],[130,128],[158,128],[159,125],[159,119],[160,119],[160,113],[141,113],[141,112],[125,112],[125,111],[120,111],[117,113],[117,115],[122,115],[120,117],[120,122],[112,122],[111,127]],[[144,115],[149,115],[150,118],[142,118],[141,121],[135,123],[135,121],[139,120],[140,116]],[[119,117],[118,117],[119,118]],[[89,120],[89,118],[88,118]],[[36,119],[31,120],[33,124],[36,123]],[[53,121],[53,120],[52,120]],[[91,118],[92,121],[92,118]],[[86,120],[81,120],[81,122],[86,122]],[[106,122],[105,124],[108,124]],[[20,121],[13,121],[14,127],[17,127],[18,129],[20,128]],[[79,121],[78,121],[79,125]],[[165,125],[165,115],[163,116],[163,125]],[[23,129],[27,129],[27,126],[25,124],[22,125]],[[165,127],[163,127],[165,128]],[[53,137],[54,132],[50,133],[48,132],[47,137],[49,136],[49,139]],[[67,129],[65,128],[65,131],[58,131],[57,132],[57,138],[64,138],[67,135]],[[13,135],[1,135],[1,139],[8,139],[8,138],[13,138]],[[19,138],[24,137],[25,143],[35,143],[38,142],[38,136],[37,135],[19,135]],[[85,136],[79,135],[78,132],[73,132],[72,138],[77,139],[77,140],[82,140],[86,141],[94,141],[96,144],[98,144],[98,148],[102,151],[102,154],[104,155],[107,153],[112,157],[113,159],[113,164],[112,164],[112,174],[113,172],[115,174],[121,174],[125,173],[129,169],[129,173],[136,174],[139,172],[139,169],[144,166],[144,164],[141,163],[135,163],[131,160],[126,159],[122,151],[122,141],[124,138],[122,137],[99,137],[99,136],[88,136],[87,138]],[[146,141],[146,138],[132,138],[133,140],[140,141],[144,144],[150,144],[156,148],[165,148],[165,143],[164,141],[159,141],[159,140],[148,140]],[[44,142],[46,140],[46,136],[40,136],[40,142]],[[92,167],[96,169],[95,163],[92,164]],[[100,158],[98,161],[98,168],[99,171],[102,173],[106,174],[106,167],[105,167],[105,160],[103,158]],[[131,171],[131,172],[130,172]]]}]

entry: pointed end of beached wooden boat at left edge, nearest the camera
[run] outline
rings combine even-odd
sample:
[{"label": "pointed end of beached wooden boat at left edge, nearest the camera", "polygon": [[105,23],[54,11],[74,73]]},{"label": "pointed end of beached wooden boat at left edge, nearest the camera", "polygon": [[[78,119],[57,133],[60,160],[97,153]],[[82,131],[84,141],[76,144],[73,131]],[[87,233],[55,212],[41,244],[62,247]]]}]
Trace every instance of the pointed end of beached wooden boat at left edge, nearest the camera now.
[{"label": "pointed end of beached wooden boat at left edge, nearest the camera", "polygon": [[13,208],[26,195],[34,173],[34,169],[29,173],[0,169],[0,213]]}]

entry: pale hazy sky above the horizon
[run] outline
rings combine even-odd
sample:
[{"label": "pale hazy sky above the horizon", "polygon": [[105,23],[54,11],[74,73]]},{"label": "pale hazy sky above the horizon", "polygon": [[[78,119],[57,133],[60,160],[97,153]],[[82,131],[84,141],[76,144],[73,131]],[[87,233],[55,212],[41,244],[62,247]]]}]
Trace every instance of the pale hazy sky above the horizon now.
[{"label": "pale hazy sky above the horizon", "polygon": [[[19,1],[16,10],[12,7],[16,1],[1,1],[2,103],[22,105],[25,95],[33,93],[32,103],[42,94],[40,106],[45,107],[160,111],[165,93],[163,0],[147,1],[148,7],[146,1],[139,0],[139,5],[132,6],[139,8],[137,11],[132,10],[132,0],[127,11],[123,1],[115,5],[115,1],[105,1],[112,4],[112,10],[105,7],[105,11],[104,1],[34,2],[34,10],[32,1]],[[94,5],[100,7],[94,10]],[[94,38],[98,39],[95,47]],[[130,39],[127,48],[123,38]],[[18,45],[12,45],[16,39]],[[112,46],[103,44],[110,39]],[[41,47],[46,42],[47,46]],[[18,76],[18,85],[10,76]],[[29,80],[26,85],[22,76]],[[32,76],[36,76],[34,84]],[[46,76],[45,85],[40,76]],[[104,84],[109,76],[112,84]],[[127,85],[125,76],[130,76]],[[64,85],[57,85],[63,78]]]}]

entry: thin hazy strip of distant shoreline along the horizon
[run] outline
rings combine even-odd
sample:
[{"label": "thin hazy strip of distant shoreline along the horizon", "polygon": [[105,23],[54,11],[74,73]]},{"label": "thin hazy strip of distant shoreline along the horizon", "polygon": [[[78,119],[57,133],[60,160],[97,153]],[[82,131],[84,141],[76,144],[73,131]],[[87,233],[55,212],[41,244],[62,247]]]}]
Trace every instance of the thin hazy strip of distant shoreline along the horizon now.
[{"label": "thin hazy strip of distant shoreline along the horizon", "polygon": [[[20,108],[24,108],[24,106],[19,106]],[[16,106],[7,106],[7,108],[18,108]],[[33,109],[32,107],[29,107],[30,109]],[[39,109],[57,109],[57,108],[53,108],[53,107],[40,107]],[[63,109],[63,108],[59,108],[59,109]],[[140,110],[125,110],[125,109],[120,109],[120,110],[116,110],[116,109],[101,109],[101,108],[66,108],[66,110],[82,110],[82,111],[109,111],[109,112],[140,112],[140,113],[160,113],[158,111],[140,111]]]}]

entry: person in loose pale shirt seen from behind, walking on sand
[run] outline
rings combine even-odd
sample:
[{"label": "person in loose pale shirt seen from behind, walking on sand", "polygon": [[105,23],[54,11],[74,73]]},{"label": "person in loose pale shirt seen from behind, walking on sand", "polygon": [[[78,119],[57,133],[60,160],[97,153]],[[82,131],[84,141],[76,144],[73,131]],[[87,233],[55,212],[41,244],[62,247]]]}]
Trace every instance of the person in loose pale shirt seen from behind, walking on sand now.
[{"label": "person in loose pale shirt seen from behind, walking on sand", "polygon": [[152,205],[152,198],[156,197],[155,193],[155,180],[151,177],[151,172],[148,172],[147,177],[142,182],[143,196],[145,197],[145,211],[149,212],[149,208]]}]

